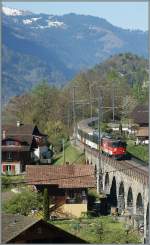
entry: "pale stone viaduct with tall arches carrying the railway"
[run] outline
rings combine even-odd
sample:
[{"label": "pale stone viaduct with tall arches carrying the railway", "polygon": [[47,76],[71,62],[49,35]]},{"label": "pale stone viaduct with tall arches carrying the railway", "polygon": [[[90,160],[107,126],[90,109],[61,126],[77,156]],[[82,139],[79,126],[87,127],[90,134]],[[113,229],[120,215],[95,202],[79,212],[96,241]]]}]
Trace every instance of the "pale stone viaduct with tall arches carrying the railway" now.
[{"label": "pale stone viaduct with tall arches carrying the railway", "polygon": [[[86,162],[99,165],[98,152],[83,146]],[[110,194],[111,206],[117,207],[120,213],[127,213],[137,220],[136,224],[144,225],[144,238],[148,239],[149,231],[149,171],[132,160],[117,161],[101,156],[102,189]]]}]

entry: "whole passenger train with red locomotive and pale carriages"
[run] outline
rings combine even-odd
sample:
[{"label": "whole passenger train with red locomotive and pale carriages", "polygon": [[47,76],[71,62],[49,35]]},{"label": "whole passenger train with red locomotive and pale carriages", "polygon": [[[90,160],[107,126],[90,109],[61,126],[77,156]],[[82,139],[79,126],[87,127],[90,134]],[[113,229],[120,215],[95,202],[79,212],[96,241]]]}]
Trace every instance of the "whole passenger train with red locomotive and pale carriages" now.
[{"label": "whole passenger train with red locomotive and pale carriages", "polygon": [[99,140],[98,132],[89,126],[90,122],[90,120],[83,120],[78,124],[77,139],[84,145],[90,146],[96,150],[100,150],[102,154],[105,154],[116,160],[126,159],[127,143],[120,138],[114,139],[111,135],[105,132],[101,133]]}]

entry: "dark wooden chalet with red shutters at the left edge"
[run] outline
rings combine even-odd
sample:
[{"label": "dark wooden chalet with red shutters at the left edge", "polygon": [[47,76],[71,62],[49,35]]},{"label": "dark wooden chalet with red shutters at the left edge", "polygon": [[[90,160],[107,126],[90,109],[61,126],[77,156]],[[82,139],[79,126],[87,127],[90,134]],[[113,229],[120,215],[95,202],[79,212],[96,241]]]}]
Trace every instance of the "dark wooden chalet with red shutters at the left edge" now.
[{"label": "dark wooden chalet with red shutters at the left edge", "polygon": [[2,173],[20,174],[26,164],[51,163],[47,135],[37,126],[22,124],[2,126]]}]

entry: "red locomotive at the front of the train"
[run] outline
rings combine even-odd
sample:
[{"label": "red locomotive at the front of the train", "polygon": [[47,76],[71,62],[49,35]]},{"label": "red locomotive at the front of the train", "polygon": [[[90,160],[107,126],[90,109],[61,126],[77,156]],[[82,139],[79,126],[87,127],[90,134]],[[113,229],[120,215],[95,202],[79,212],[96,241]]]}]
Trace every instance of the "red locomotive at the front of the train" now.
[{"label": "red locomotive at the front of the train", "polygon": [[121,139],[112,139],[110,137],[103,137],[101,139],[101,151],[108,156],[115,159],[122,159],[126,155],[127,144]]}]

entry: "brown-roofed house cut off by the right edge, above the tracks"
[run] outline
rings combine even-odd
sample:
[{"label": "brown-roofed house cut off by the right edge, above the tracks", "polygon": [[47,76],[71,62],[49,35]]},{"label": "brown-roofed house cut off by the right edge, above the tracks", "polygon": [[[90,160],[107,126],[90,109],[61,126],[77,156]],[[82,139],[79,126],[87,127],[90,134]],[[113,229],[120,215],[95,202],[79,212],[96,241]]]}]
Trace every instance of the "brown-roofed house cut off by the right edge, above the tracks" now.
[{"label": "brown-roofed house cut off by the right edge, above the tracks", "polygon": [[149,110],[148,105],[137,105],[131,118],[138,125],[135,136],[136,144],[149,144]]}]

